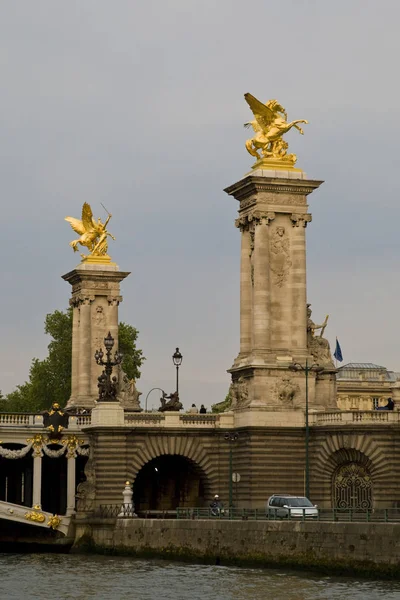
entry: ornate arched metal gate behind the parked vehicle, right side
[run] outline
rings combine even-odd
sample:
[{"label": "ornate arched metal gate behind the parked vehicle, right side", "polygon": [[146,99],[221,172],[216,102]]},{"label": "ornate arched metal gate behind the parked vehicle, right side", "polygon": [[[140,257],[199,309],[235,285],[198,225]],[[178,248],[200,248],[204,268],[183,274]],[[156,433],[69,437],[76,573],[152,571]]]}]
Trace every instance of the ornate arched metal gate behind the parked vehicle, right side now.
[{"label": "ornate arched metal gate behind the parked vehicle, right side", "polygon": [[372,509],[372,481],[365,467],[342,465],[333,477],[334,508]]}]

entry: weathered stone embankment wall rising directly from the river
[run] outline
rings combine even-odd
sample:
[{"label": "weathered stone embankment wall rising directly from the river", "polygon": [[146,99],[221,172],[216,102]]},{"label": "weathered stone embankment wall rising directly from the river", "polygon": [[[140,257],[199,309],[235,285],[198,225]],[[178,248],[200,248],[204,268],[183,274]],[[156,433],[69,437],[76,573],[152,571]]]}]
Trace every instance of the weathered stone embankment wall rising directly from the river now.
[{"label": "weathered stone embankment wall rising directly from the river", "polygon": [[78,520],[75,552],[400,577],[400,523]]}]

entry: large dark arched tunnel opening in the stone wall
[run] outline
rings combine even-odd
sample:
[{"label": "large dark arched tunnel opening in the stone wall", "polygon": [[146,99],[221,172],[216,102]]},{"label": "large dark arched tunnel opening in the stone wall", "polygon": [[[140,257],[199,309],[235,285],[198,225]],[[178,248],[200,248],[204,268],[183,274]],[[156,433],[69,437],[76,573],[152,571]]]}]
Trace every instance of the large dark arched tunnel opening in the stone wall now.
[{"label": "large dark arched tunnel opening in the stone wall", "polygon": [[194,461],[178,455],[158,456],[146,463],[135,479],[135,510],[204,506],[207,487],[206,476]]}]

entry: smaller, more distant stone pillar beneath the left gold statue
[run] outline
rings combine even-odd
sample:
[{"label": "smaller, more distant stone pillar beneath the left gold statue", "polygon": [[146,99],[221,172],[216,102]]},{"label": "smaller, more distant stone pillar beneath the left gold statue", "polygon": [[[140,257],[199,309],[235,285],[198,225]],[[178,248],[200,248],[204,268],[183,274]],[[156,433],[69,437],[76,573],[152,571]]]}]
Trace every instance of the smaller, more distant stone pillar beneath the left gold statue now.
[{"label": "smaller, more distant stone pillar beneath the left gold statue", "polygon": [[93,408],[98,397],[97,378],[102,368],[94,360],[111,332],[118,348],[120,282],[129,273],[115,264],[82,262],[63,276],[72,286],[72,382],[68,407]]}]

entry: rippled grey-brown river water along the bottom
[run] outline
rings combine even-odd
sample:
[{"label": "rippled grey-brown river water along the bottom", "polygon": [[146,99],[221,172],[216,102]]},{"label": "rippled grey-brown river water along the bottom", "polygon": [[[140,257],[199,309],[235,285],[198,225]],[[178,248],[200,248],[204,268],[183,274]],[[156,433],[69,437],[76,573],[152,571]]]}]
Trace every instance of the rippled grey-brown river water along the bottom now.
[{"label": "rippled grey-brown river water along the bottom", "polygon": [[400,582],[63,554],[0,554],[1,600],[400,600]]}]

